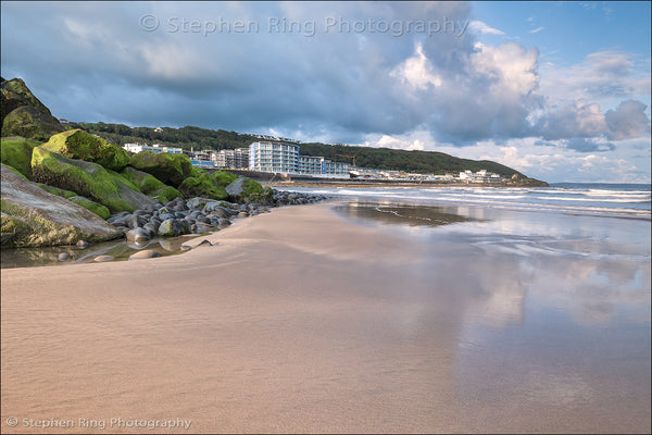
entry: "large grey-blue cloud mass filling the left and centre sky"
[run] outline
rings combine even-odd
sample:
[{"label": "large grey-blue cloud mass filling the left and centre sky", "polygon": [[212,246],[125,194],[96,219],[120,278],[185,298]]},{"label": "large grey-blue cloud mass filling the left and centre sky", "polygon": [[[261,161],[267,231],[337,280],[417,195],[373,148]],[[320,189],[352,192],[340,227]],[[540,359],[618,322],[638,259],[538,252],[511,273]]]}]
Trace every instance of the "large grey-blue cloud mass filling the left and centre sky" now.
[{"label": "large grey-blue cloud mass filling the left and centre sky", "polygon": [[[3,2],[2,75],[75,121],[333,141],[425,129],[456,146],[649,132],[636,101],[606,115],[552,105],[538,94],[538,50],[478,44],[469,13],[452,2]],[[593,61],[622,74],[622,62]]]}]

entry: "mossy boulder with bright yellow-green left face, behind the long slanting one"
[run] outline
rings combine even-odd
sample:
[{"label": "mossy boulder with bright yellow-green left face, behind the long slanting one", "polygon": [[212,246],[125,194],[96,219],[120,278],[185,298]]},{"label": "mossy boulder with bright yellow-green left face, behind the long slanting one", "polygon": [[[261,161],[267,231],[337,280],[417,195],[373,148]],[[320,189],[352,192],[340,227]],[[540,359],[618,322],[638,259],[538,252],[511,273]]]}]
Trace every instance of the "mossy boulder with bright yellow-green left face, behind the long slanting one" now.
[{"label": "mossy boulder with bright yellow-green left face, behind the long slanting one", "polygon": [[101,164],[112,171],[122,171],[129,164],[127,151],[80,129],[54,135],[42,147],[70,159]]}]

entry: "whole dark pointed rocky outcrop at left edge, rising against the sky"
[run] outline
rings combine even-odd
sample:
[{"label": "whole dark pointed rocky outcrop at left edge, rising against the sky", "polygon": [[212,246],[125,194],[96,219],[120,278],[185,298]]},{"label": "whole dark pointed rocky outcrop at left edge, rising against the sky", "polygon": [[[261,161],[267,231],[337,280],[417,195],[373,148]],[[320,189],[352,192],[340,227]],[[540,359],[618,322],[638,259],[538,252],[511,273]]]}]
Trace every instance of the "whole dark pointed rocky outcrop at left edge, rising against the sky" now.
[{"label": "whole dark pointed rocky outcrop at left edge, rising against the sky", "polygon": [[22,136],[48,140],[51,135],[65,129],[22,79],[2,82],[0,94],[3,137]]}]

